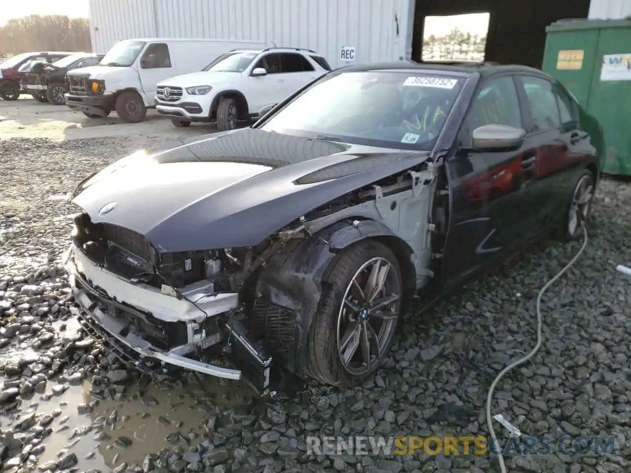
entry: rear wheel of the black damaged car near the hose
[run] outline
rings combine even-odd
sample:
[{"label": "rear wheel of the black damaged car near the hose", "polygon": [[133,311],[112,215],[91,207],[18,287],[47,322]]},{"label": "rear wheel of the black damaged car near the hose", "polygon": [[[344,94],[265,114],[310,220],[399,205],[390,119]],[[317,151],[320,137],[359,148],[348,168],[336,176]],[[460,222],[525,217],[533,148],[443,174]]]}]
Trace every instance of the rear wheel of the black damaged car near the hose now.
[{"label": "rear wheel of the black damaged car near the hose", "polygon": [[572,196],[570,196],[558,230],[560,240],[570,242],[583,237],[583,228],[591,214],[594,190],[594,175],[589,170],[584,170],[572,188]]}]

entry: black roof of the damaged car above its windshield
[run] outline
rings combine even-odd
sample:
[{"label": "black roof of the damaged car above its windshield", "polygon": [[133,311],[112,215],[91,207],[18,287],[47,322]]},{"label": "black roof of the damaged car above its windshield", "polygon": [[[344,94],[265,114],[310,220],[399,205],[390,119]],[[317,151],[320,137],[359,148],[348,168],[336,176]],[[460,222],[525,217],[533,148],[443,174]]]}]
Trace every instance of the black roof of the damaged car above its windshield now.
[{"label": "black roof of the damaged car above its windshield", "polygon": [[479,73],[481,76],[490,74],[509,73],[536,73],[547,76],[540,69],[534,67],[521,66],[520,64],[497,64],[496,62],[475,62],[475,61],[399,61],[381,62],[377,64],[358,64],[353,66],[343,66],[336,69],[346,72],[369,72],[369,71],[401,71],[414,73],[418,71],[432,71],[448,73],[454,76],[468,76],[472,73]]}]

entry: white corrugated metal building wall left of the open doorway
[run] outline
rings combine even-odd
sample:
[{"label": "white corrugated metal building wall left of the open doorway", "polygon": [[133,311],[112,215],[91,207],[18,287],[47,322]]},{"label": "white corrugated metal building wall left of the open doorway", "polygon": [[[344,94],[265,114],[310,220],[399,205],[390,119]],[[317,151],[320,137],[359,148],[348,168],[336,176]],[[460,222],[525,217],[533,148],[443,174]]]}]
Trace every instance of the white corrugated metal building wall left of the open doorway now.
[{"label": "white corrugated metal building wall left of the open doorway", "polygon": [[93,50],[134,37],[274,42],[326,55],[356,48],[356,62],[411,55],[413,0],[90,0]]}]

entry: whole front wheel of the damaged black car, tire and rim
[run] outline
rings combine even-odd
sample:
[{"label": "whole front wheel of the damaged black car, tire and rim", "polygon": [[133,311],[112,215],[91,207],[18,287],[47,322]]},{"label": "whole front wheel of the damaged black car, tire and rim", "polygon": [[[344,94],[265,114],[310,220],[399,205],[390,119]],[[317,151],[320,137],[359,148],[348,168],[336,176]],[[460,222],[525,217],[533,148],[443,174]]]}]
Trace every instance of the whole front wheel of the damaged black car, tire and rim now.
[{"label": "whole front wheel of the damaged black car, tire and rim", "polygon": [[305,371],[348,387],[372,375],[387,355],[401,308],[401,269],[386,245],[363,240],[333,260],[322,287]]}]

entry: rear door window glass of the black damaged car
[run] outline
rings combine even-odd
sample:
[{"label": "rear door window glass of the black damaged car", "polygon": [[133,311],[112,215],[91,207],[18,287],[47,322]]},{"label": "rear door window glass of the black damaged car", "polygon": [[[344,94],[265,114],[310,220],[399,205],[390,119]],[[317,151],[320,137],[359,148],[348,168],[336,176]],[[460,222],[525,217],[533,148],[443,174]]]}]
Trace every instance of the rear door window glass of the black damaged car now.
[{"label": "rear door window glass of the black damaged car", "polygon": [[522,76],[522,83],[533,117],[531,131],[546,131],[559,127],[561,117],[552,83],[534,76]]}]

